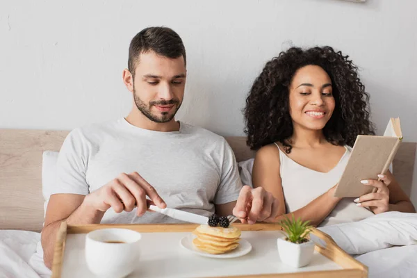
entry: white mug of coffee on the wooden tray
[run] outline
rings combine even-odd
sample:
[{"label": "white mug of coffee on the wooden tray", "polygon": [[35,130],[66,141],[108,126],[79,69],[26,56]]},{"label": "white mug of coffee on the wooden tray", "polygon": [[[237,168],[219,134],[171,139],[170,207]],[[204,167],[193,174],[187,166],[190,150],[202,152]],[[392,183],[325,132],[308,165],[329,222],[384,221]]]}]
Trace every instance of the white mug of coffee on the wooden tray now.
[{"label": "white mug of coffee on the wooden tray", "polygon": [[129,229],[99,229],[85,237],[88,268],[99,277],[125,277],[139,263],[142,235]]}]

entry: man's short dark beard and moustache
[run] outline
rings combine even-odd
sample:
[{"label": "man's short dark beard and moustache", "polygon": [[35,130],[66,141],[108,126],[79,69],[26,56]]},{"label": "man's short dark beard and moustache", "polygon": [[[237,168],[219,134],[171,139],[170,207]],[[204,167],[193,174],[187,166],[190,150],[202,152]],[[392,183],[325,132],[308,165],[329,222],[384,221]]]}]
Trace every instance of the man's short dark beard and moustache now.
[{"label": "man's short dark beard and moustache", "polygon": [[[151,120],[152,122],[158,122],[158,123],[164,123],[164,122],[170,122],[172,119],[174,119],[175,114],[177,114],[178,109],[181,107],[181,102],[179,102],[178,99],[170,99],[170,100],[160,100],[160,101],[150,101],[149,105],[145,104],[145,102],[142,101],[142,99],[140,99],[138,97],[138,95],[136,95],[136,90],[133,87],[133,98],[135,99],[135,104],[136,107],[138,107],[139,111],[145,115],[149,120]],[[161,112],[161,116],[159,115],[154,115],[151,112],[151,108],[152,106],[155,105],[172,105],[174,104],[175,107],[173,107],[175,109],[174,113],[172,113],[170,115],[170,112]]]}]

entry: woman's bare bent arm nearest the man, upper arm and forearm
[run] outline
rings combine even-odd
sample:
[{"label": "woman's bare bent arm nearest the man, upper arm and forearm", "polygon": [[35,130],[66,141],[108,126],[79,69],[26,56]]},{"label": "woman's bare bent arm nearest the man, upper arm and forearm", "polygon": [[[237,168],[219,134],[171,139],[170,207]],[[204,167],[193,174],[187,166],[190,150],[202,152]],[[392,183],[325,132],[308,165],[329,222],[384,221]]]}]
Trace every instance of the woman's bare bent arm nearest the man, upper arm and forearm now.
[{"label": "woman's bare bent arm nearest the man, upper arm and forearm", "polygon": [[[279,216],[275,218],[275,222],[282,220],[286,213],[279,166],[277,146],[267,145],[256,152],[252,170],[252,183],[254,188],[262,186],[279,200]],[[341,198],[333,197],[334,188],[330,188],[326,193],[291,214],[294,214],[295,219],[310,220],[311,225],[320,224],[341,200]]]}]

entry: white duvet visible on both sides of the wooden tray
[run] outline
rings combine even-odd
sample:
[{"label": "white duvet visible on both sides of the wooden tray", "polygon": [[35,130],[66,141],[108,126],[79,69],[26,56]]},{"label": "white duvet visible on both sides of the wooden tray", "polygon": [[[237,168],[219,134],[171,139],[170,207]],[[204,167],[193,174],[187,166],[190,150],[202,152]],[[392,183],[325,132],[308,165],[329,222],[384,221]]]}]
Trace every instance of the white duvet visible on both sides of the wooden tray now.
[{"label": "white duvet visible on both sides of the wooden tray", "polygon": [[[381,213],[319,229],[367,265],[369,277],[417,277],[416,213]],[[0,278],[49,277],[51,272],[39,255],[39,240],[39,233],[0,230]]]}]

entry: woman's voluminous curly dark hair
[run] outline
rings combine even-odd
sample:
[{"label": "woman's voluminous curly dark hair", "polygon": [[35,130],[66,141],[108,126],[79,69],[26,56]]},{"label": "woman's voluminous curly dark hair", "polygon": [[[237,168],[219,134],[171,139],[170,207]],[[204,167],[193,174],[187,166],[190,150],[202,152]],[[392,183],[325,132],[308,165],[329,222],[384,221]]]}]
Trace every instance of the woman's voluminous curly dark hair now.
[{"label": "woman's voluminous curly dark hair", "polygon": [[332,80],[335,108],[323,128],[327,141],[352,147],[359,134],[374,135],[369,120],[369,95],[359,80],[357,66],[332,47],[301,49],[291,47],[272,58],[255,79],[246,99],[245,133],[247,145],[259,149],[272,142],[281,142],[291,152],[289,139],[293,122],[289,113],[289,86],[295,72],[306,65],[322,67]]}]

